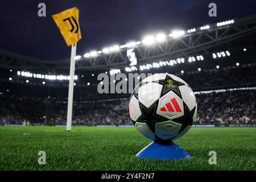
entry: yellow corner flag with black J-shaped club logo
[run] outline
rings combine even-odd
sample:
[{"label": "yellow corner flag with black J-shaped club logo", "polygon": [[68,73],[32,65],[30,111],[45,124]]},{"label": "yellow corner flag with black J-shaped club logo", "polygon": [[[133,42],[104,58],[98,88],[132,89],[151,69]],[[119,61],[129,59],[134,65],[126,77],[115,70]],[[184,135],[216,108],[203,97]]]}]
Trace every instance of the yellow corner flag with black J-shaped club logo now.
[{"label": "yellow corner flag with black J-shaped club logo", "polygon": [[81,32],[79,26],[79,9],[77,7],[52,15],[52,18],[68,46],[79,42]]}]

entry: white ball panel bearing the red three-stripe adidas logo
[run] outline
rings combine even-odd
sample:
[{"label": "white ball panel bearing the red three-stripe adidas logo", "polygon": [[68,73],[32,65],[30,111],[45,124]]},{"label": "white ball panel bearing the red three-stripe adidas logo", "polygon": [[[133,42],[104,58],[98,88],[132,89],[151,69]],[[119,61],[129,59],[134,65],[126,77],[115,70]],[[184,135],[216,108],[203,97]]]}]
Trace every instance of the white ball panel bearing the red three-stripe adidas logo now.
[{"label": "white ball panel bearing the red three-stripe adidas logo", "polygon": [[177,94],[170,91],[159,98],[156,114],[167,119],[179,118],[184,115],[183,101]]}]

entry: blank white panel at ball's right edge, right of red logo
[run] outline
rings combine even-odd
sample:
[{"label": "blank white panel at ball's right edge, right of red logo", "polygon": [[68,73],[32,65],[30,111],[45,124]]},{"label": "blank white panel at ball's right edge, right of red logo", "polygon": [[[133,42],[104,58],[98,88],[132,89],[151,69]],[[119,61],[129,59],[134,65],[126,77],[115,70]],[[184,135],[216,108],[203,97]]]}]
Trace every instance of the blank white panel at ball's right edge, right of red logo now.
[{"label": "blank white panel at ball's right edge, right of red logo", "polygon": [[191,111],[196,106],[196,96],[187,85],[179,86],[181,97]]}]

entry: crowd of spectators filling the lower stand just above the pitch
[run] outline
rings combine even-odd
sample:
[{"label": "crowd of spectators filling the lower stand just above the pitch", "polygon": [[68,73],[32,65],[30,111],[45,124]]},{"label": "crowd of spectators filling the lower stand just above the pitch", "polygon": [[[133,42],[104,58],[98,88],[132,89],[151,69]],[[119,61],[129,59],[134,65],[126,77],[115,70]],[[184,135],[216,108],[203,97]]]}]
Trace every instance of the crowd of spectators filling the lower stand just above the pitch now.
[{"label": "crowd of spectators filling the lower stand just above the pitch", "polygon": [[[256,90],[196,94],[197,125],[256,124]],[[0,96],[0,123],[65,125],[67,101]],[[131,125],[129,98],[73,104],[73,125]]]}]

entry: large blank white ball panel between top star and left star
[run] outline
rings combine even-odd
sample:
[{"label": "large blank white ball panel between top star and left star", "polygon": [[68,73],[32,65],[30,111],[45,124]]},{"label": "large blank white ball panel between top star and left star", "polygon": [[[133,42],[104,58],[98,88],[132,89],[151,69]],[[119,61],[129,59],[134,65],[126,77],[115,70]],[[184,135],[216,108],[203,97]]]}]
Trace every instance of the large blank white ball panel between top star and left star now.
[{"label": "large blank white ball panel between top star and left star", "polygon": [[163,85],[155,82],[148,82],[139,88],[139,102],[147,108],[154,104],[161,95]]}]

